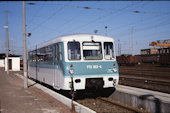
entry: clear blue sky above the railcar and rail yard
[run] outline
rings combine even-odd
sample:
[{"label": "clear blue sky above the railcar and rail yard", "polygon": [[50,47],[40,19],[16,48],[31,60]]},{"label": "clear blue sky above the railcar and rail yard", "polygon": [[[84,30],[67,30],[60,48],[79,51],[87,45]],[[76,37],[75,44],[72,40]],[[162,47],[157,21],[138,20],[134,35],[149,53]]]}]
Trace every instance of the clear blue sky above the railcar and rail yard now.
[{"label": "clear blue sky above the railcar and rail yard", "polygon": [[[28,3],[35,3],[29,5]],[[132,53],[132,28],[134,28],[135,54],[141,49],[153,48],[149,43],[170,39],[169,1],[26,1],[27,48],[35,47],[54,37],[92,33],[113,37],[118,51],[118,40],[122,54]],[[13,40],[15,54],[22,54],[22,1],[0,2],[0,53],[5,52],[8,10],[9,42]]]}]

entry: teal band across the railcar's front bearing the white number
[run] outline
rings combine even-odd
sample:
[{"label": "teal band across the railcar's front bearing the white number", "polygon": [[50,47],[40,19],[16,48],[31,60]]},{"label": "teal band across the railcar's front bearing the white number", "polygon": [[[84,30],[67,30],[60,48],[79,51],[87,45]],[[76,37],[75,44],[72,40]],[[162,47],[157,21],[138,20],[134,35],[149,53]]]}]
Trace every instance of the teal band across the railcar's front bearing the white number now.
[{"label": "teal band across the railcar's front bearing the white number", "polygon": [[[115,65],[114,65],[115,64]],[[103,62],[67,62],[64,63],[64,75],[70,76],[69,70],[74,70],[74,76],[118,76],[119,70],[116,61],[103,61]],[[117,72],[113,71],[117,69]]]}]

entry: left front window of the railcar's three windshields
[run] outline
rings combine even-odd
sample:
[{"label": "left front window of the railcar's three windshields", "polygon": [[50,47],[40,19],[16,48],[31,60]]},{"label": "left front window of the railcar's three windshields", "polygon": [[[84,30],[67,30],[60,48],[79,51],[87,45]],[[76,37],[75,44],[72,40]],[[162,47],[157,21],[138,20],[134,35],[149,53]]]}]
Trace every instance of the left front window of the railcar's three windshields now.
[{"label": "left front window of the railcar's three windshields", "polygon": [[68,59],[69,60],[81,59],[79,42],[68,42]]}]

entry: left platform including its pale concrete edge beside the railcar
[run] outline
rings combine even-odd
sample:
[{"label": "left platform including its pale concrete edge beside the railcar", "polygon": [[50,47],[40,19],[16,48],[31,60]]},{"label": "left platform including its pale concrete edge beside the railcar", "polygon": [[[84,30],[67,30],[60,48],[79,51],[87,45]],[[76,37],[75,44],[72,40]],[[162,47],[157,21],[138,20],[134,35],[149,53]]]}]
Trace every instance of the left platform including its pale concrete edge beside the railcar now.
[{"label": "left platform including its pale concrete edge beside the railcar", "polygon": [[[24,89],[23,76],[18,72],[6,74],[0,68],[0,113],[71,113],[71,100],[28,79]],[[75,111],[95,113],[76,102]]]}]

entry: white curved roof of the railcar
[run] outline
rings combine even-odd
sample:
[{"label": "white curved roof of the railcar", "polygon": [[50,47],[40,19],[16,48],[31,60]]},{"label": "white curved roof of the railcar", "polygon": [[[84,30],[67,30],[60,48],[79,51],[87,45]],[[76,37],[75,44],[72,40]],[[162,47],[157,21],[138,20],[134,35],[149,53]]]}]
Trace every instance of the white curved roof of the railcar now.
[{"label": "white curved roof of the railcar", "polygon": [[95,35],[95,34],[72,34],[72,35],[64,35],[55,37],[52,40],[49,40],[47,42],[44,42],[43,44],[40,44],[40,46],[37,46],[38,48],[48,46],[50,44],[56,43],[56,42],[65,42],[65,41],[111,41],[114,42],[114,39],[112,37],[108,36],[102,36],[102,35]]}]

